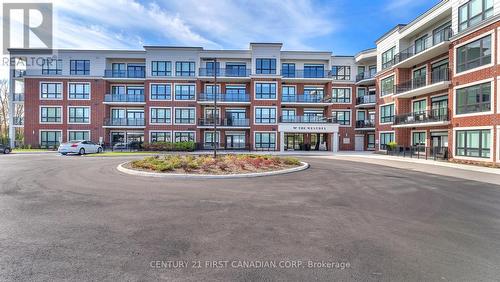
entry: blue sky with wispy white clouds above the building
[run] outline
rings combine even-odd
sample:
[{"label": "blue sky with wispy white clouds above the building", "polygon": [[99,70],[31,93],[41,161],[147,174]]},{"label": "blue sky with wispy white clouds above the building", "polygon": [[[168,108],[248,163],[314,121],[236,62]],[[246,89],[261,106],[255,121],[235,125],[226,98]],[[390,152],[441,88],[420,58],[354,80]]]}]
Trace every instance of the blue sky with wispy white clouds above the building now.
[{"label": "blue sky with wispy white clouds above the building", "polygon": [[438,0],[85,0],[54,1],[59,48],[141,49],[142,45],[286,50],[353,55]]}]

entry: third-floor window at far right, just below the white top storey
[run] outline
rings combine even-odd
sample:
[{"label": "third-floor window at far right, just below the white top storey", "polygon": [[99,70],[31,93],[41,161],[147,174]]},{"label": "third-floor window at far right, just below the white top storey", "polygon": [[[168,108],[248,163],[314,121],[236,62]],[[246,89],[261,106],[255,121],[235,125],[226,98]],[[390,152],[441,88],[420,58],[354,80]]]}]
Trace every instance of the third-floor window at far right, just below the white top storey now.
[{"label": "third-floor window at far right, just below the white top storey", "polygon": [[457,48],[457,73],[491,63],[491,35]]}]

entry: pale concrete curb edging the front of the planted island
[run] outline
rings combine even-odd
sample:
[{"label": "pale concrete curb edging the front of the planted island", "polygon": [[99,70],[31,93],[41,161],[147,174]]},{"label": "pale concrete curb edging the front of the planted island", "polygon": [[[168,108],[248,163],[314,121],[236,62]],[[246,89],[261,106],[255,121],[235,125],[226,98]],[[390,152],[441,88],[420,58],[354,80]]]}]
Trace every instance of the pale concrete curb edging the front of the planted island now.
[{"label": "pale concrete curb edging the front of the planted island", "polygon": [[138,176],[148,176],[148,177],[159,177],[159,178],[183,178],[183,179],[229,179],[229,178],[252,178],[252,177],[262,177],[262,176],[272,176],[287,174],[292,172],[298,172],[306,170],[309,168],[309,164],[305,162],[300,162],[302,165],[299,167],[288,168],[278,171],[266,171],[259,173],[241,173],[241,174],[226,174],[226,175],[200,175],[200,174],[188,174],[188,173],[160,173],[160,172],[148,172],[139,171],[134,169],[129,169],[124,167],[125,164],[129,162],[122,163],[116,167],[118,171]]}]

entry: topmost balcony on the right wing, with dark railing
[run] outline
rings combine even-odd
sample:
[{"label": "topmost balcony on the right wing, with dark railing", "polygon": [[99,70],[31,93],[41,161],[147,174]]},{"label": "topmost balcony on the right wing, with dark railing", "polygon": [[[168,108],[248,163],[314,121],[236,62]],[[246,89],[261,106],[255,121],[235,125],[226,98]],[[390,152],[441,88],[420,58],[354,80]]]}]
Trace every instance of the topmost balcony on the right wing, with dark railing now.
[{"label": "topmost balcony on the right wing, with dark railing", "polygon": [[445,28],[422,43],[412,45],[394,56],[394,67],[409,68],[448,52],[453,30]]}]

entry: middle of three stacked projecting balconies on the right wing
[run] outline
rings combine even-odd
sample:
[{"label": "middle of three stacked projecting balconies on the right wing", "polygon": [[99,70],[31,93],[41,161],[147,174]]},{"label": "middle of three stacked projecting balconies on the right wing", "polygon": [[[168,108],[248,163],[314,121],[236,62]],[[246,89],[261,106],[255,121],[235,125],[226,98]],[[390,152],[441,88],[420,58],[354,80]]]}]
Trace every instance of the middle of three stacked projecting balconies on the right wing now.
[{"label": "middle of three stacked projecting balconies on the right wing", "polygon": [[438,69],[431,72],[430,81],[426,77],[417,77],[396,85],[396,98],[411,98],[435,91],[448,89],[450,69]]}]

